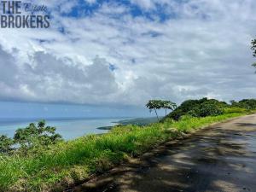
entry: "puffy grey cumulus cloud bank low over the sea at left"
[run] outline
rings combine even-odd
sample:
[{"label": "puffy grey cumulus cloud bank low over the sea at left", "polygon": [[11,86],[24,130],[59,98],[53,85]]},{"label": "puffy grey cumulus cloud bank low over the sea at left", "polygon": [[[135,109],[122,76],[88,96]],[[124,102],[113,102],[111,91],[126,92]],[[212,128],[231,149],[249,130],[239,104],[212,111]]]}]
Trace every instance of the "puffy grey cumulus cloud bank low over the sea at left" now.
[{"label": "puffy grey cumulus cloud bank low over the sea at left", "polygon": [[118,90],[107,61],[99,57],[84,66],[69,58],[57,59],[54,55],[38,51],[30,56],[31,63],[18,67],[12,55],[3,50],[0,55],[4,60],[1,85],[5,90],[0,96],[5,100],[110,102],[110,95]]}]

